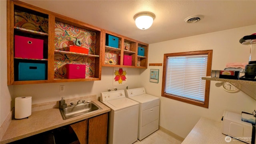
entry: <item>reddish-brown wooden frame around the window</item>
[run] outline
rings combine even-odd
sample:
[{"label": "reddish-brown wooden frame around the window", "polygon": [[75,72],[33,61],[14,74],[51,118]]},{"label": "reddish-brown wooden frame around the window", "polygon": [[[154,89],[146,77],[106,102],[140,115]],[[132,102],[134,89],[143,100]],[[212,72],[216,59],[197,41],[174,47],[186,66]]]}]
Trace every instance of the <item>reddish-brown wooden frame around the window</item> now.
[{"label": "reddish-brown wooden frame around the window", "polygon": [[202,106],[204,108],[208,108],[209,94],[210,94],[210,80],[206,80],[204,102],[192,100],[189,98],[182,98],[180,96],[167,94],[165,92],[165,79],[166,79],[166,67],[167,67],[166,64],[168,63],[167,62],[168,56],[189,56],[189,55],[200,55],[200,54],[208,55],[206,76],[210,76],[211,70],[212,70],[212,50],[200,50],[200,51],[193,51],[193,52],[177,52],[177,53],[164,54],[163,77],[162,77],[162,96],[163,97],[179,100],[181,102],[186,102],[188,104],[194,104],[196,106]]}]

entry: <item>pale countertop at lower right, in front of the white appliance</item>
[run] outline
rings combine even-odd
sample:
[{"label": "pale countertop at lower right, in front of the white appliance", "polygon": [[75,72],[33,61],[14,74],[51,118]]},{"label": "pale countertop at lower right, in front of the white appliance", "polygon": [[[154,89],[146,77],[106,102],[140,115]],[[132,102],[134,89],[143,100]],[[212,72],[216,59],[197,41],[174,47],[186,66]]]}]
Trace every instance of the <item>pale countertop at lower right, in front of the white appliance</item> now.
[{"label": "pale countertop at lower right, in front of the white appliance", "polygon": [[221,133],[220,122],[201,118],[182,144],[246,144],[234,138],[226,142],[225,138],[226,135]]}]

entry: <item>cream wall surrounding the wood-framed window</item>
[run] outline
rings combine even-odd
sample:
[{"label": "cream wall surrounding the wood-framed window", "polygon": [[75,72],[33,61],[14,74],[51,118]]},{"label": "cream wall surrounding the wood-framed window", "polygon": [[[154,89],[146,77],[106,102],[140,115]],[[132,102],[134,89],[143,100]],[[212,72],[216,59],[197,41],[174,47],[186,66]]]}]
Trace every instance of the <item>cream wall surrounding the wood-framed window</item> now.
[{"label": "cream wall surrounding the wood-framed window", "polygon": [[[256,25],[213,32],[176,40],[150,44],[148,63],[163,63],[165,53],[213,50],[212,70],[223,70],[228,62],[248,62],[250,46],[239,43],[240,38],[256,32]],[[162,66],[149,66],[142,70],[142,85],[148,94],[161,98],[160,126],[185,138],[200,117],[220,121],[224,110],[240,113],[252,112],[256,100],[243,92],[235,94],[222,90],[211,81],[209,108],[194,106],[177,100],[161,97]],[[149,82],[150,69],[159,69],[159,83]]]}]

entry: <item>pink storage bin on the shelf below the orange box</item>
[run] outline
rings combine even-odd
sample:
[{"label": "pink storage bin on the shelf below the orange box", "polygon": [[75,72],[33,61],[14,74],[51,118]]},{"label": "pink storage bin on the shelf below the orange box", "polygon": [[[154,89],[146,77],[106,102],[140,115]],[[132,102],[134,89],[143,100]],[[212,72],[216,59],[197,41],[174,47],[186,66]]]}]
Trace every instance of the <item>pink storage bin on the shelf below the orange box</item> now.
[{"label": "pink storage bin on the shelf below the orange box", "polygon": [[66,64],[67,78],[85,78],[85,64]]}]

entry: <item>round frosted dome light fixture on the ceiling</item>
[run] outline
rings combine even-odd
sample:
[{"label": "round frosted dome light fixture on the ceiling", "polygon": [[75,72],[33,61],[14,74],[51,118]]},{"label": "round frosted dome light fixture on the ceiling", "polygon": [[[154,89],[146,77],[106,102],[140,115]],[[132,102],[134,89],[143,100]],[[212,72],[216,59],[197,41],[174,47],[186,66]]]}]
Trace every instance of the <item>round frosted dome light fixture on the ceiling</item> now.
[{"label": "round frosted dome light fixture on the ceiling", "polygon": [[156,15],[152,12],[139,12],[134,15],[134,20],[136,26],[141,30],[146,30],[150,28],[153,24],[153,20],[156,18]]}]

